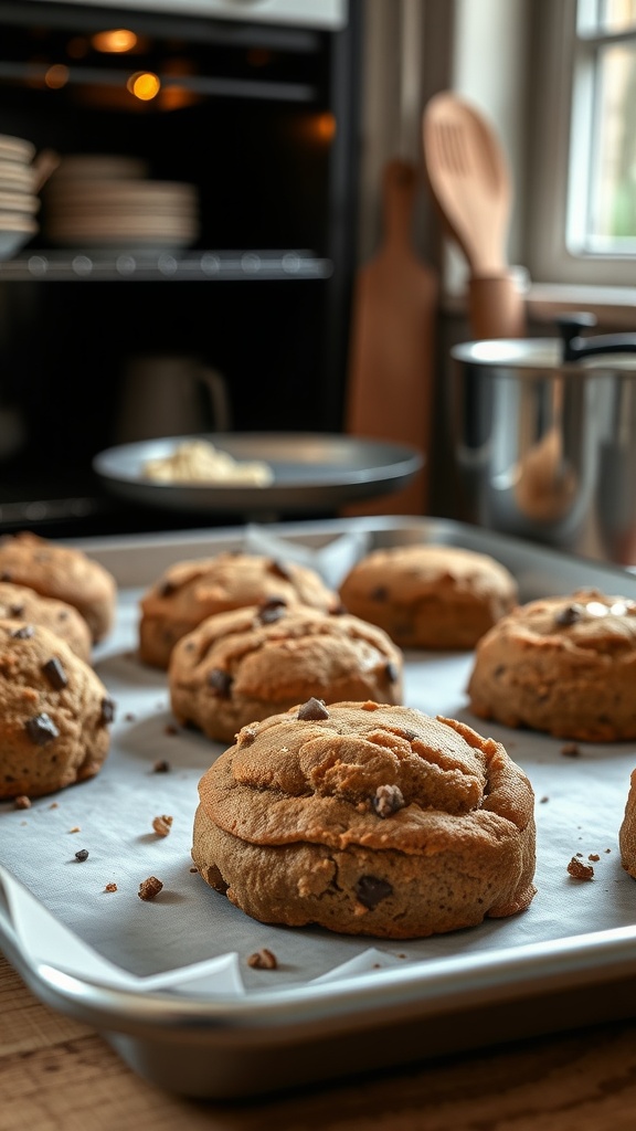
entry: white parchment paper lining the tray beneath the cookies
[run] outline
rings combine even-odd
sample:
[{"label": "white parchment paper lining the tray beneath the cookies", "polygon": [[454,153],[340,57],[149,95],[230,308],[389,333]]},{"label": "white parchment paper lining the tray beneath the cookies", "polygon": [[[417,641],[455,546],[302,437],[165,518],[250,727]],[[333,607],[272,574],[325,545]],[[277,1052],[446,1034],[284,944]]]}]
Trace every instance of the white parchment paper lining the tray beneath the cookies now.
[{"label": "white parchment paper lining the tray beneath the cookies", "polygon": [[[253,547],[253,532],[250,538]],[[363,549],[345,539],[340,567],[334,547],[320,551],[330,580]],[[151,554],[148,584],[155,577],[152,561]],[[100,775],[34,800],[27,810],[0,803],[0,910],[26,952],[71,973],[92,970],[106,984],[180,985],[206,996],[350,978],[396,962],[508,950],[636,923],[636,883],[618,851],[636,743],[579,743],[571,757],[558,740],[483,724],[466,710],[472,654],[415,651],[405,654],[405,702],[492,735],[530,776],[538,824],[538,895],[531,907],[479,927],[395,944],[250,920],[192,871],[197,784],[223,746],[175,726],[165,673],[137,659],[141,593],[121,590],[115,631],[95,651],[96,671],[117,703]],[[169,765],[166,772],[156,771],[160,761]],[[163,814],[172,817],[172,827],[158,837],[153,819]],[[78,862],[75,854],[83,848],[88,857]],[[591,881],[568,874],[576,854],[586,862],[598,857]],[[163,890],[143,901],[139,884],[151,875]],[[109,883],[117,891],[108,891]],[[25,898],[20,884],[34,898]],[[248,965],[261,948],[275,953],[276,970]]]}]

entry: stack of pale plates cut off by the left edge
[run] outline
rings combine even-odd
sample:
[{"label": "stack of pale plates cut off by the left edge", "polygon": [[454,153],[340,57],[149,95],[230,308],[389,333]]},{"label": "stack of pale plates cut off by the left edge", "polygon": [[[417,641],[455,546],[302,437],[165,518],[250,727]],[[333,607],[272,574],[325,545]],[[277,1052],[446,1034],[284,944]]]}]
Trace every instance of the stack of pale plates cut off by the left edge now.
[{"label": "stack of pale plates cut off by the left edge", "polygon": [[15,256],[38,231],[34,156],[32,141],[0,133],[0,260]]}]

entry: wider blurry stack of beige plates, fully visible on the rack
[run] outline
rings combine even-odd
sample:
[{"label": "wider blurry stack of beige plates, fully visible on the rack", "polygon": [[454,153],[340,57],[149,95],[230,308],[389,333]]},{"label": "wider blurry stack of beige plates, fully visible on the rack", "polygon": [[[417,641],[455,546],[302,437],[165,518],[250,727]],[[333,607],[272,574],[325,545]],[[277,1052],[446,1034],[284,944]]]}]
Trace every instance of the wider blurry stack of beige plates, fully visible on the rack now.
[{"label": "wider blurry stack of beige plates, fully visible on the rack", "polygon": [[196,185],[146,172],[135,157],[62,157],[44,195],[48,238],[97,253],[189,247],[199,234]]}]

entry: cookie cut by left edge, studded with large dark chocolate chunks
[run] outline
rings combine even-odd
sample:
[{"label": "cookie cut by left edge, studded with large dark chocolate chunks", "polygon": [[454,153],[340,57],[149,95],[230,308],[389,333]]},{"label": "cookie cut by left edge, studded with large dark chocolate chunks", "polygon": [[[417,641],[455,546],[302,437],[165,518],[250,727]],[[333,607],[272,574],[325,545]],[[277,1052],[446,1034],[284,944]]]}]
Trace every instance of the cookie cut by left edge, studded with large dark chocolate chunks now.
[{"label": "cookie cut by left edge, studded with large dark chocolate chunks", "polygon": [[51,629],[0,620],[0,798],[40,797],[94,777],[114,703]]}]

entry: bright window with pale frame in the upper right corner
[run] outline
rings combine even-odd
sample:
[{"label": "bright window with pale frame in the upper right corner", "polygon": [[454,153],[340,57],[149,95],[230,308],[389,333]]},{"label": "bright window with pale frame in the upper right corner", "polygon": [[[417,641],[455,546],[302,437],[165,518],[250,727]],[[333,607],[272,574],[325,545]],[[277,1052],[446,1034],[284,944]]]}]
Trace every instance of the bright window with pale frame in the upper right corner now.
[{"label": "bright window with pale frame in the upper right corner", "polygon": [[636,286],[636,0],[533,6],[527,265]]}]

